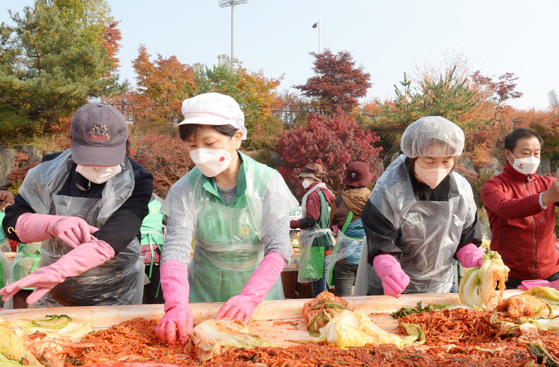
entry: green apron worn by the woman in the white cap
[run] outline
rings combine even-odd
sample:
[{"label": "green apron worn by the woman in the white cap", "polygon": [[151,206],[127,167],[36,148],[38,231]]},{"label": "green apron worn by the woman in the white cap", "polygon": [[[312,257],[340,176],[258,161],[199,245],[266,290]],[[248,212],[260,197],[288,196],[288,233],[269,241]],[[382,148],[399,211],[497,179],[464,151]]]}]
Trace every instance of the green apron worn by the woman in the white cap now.
[{"label": "green apron worn by the woman in the white cap", "polygon": [[[245,176],[248,165],[255,178]],[[237,296],[259,266],[264,257],[264,243],[254,223],[259,218],[253,218],[245,191],[247,180],[266,182],[273,173],[265,166],[254,164],[252,159],[243,159],[237,178],[237,196],[228,206],[217,193],[214,178],[202,177],[201,191],[195,195],[210,197],[198,208],[194,257],[188,267],[189,302],[225,302]],[[283,298],[282,281],[278,278],[266,300]]]}]

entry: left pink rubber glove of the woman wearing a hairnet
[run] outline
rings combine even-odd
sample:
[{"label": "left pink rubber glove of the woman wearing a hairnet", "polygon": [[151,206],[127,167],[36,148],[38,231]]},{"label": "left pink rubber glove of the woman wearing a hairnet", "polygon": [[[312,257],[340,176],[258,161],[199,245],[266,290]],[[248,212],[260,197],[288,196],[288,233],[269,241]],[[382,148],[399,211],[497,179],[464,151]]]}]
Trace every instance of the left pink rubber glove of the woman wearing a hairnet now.
[{"label": "left pink rubber glove of the woman wearing a hairnet", "polygon": [[402,271],[402,266],[391,254],[380,254],[372,261],[377,275],[382,280],[386,296],[400,298],[409,285],[409,276]]}]

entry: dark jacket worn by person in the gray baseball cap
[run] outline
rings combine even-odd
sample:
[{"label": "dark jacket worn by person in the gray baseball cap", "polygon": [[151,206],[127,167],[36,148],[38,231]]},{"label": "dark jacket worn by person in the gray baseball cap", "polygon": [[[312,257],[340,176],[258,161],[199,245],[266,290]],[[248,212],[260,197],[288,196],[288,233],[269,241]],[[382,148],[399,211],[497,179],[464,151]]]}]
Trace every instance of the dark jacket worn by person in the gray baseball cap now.
[{"label": "dark jacket worn by person in the gray baseball cap", "polygon": [[[43,161],[55,159],[61,153],[45,154]],[[115,213],[112,213],[102,229],[92,233],[99,240],[108,243],[114,250],[115,255],[124,250],[136,236],[140,238],[140,226],[144,217],[149,213],[147,204],[150,203],[153,192],[153,175],[143,168],[132,157],[126,155],[126,158],[132,165],[134,173],[134,188],[131,196],[122,203]],[[57,194],[72,197],[94,198],[99,199],[103,194],[105,182],[101,184],[93,183],[87,191],[80,190],[74,182],[74,177],[78,184],[87,187],[89,180],[84,178],[80,173],[75,174],[76,164],[72,165],[71,174],[64,186]],[[15,228],[17,218],[24,213],[35,213],[29,206],[29,203],[23,199],[20,194],[15,196],[15,203],[6,208],[6,217],[2,221],[2,227],[6,233],[8,227]],[[15,233],[8,233],[8,238],[21,242]]]}]

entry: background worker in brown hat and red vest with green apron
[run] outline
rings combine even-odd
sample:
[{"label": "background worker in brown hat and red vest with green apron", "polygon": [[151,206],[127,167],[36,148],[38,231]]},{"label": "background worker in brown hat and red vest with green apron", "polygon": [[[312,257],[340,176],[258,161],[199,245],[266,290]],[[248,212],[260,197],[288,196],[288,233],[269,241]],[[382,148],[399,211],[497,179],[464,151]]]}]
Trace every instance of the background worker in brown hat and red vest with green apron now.
[{"label": "background worker in brown hat and red vest with green apron", "polygon": [[299,234],[301,260],[298,281],[311,284],[312,296],[327,289],[326,270],[334,238],[330,231],[330,209],[334,194],[326,187],[328,170],[321,164],[310,163],[299,174],[305,195],[301,200],[301,219],[291,220],[291,229],[302,229]]}]

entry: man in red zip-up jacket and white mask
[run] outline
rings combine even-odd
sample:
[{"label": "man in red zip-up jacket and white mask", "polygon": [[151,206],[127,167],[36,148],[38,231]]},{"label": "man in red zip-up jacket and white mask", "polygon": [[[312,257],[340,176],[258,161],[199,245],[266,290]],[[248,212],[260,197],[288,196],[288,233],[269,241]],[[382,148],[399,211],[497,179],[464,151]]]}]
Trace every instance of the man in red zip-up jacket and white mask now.
[{"label": "man in red zip-up jacket and white mask", "polygon": [[504,139],[507,161],[502,173],[481,189],[493,233],[491,250],[510,268],[505,283],[509,289],[559,280],[554,234],[559,180],[536,173],[542,144],[536,131],[514,129]]}]

